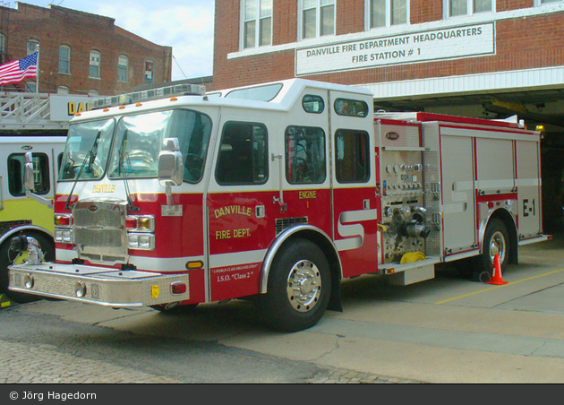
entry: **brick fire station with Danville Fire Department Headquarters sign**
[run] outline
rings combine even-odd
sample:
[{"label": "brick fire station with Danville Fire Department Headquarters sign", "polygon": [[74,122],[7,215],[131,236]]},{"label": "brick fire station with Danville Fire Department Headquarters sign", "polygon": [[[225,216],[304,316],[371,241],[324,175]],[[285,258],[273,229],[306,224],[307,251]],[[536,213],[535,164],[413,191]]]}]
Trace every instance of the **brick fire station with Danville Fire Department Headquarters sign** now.
[{"label": "brick fire station with Danville Fire Department Headquarters sign", "polygon": [[366,87],[374,108],[544,125],[545,212],[564,202],[563,0],[216,0],[214,86]]}]

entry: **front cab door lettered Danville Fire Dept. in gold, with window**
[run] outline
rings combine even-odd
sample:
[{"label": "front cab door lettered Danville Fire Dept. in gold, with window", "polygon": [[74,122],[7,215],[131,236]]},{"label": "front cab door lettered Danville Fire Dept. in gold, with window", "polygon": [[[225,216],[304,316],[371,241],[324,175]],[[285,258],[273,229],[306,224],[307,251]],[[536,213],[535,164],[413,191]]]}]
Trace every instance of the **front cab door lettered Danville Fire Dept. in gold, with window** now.
[{"label": "front cab door lettered Danville Fire Dept. in gold, with window", "polygon": [[224,116],[207,197],[209,300],[259,292],[260,269],[276,207],[269,178],[270,128],[265,121]]}]

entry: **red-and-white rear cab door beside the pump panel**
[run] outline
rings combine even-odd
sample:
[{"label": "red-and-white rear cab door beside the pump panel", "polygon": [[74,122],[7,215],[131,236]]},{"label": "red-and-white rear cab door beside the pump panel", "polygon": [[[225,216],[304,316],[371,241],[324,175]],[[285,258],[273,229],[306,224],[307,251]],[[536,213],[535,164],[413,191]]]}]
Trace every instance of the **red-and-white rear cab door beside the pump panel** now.
[{"label": "red-and-white rear cab door beside the pump panel", "polygon": [[333,234],[343,276],[377,271],[372,99],[331,91]]}]

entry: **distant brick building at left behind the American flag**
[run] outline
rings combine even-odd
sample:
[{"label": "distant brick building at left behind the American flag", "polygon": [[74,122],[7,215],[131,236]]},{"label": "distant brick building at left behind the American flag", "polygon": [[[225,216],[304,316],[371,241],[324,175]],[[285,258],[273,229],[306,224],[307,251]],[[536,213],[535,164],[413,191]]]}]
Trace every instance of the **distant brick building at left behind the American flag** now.
[{"label": "distant brick building at left behind the American flag", "polygon": [[[0,6],[1,62],[21,59],[39,47],[41,93],[114,95],[170,82],[172,48],[115,26],[113,18],[54,4],[16,6]],[[36,81],[14,87],[35,92]]]}]

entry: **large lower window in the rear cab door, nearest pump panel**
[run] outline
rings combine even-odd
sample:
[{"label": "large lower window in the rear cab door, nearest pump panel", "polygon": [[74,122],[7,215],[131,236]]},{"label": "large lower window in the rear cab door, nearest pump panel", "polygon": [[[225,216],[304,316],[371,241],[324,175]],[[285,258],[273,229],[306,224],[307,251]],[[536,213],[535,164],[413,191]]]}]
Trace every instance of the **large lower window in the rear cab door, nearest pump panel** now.
[{"label": "large lower window in the rear cab door, nearest pump panel", "polygon": [[358,130],[337,131],[335,176],[339,183],[365,183],[370,179],[369,136]]}]

